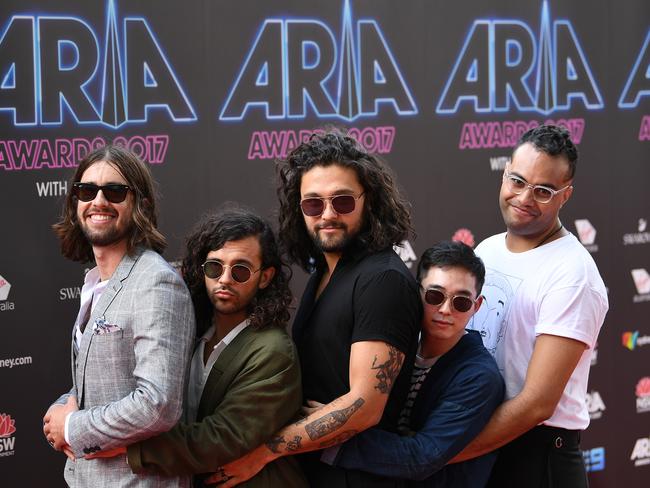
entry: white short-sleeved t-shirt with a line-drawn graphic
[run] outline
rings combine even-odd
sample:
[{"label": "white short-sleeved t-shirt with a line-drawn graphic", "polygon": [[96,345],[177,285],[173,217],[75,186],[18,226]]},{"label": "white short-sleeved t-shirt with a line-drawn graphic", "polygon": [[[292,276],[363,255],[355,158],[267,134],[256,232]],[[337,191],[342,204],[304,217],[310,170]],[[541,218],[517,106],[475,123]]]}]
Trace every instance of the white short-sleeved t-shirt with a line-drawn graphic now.
[{"label": "white short-sleeved t-shirt with a line-drawn graphic", "polygon": [[521,253],[510,252],[505,233],[497,234],[479,244],[476,254],[486,267],[485,301],[467,328],[481,333],[495,357],[506,398],[523,388],[538,335],[583,342],[585,351],[544,424],[585,429],[591,354],[609,307],[596,263],[573,234]]}]

